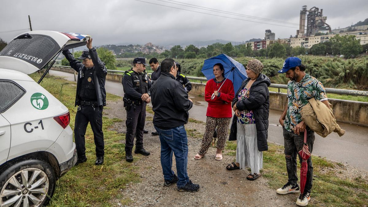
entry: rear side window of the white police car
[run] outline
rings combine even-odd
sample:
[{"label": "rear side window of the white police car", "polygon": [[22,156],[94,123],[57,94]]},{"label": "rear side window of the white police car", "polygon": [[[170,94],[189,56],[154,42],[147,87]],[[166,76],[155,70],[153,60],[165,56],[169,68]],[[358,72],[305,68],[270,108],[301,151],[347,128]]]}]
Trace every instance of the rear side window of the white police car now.
[{"label": "rear side window of the white police car", "polygon": [[10,80],[0,80],[0,113],[5,112],[25,94],[24,88]]}]

